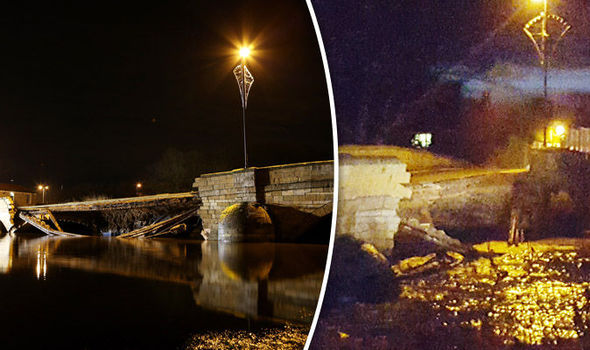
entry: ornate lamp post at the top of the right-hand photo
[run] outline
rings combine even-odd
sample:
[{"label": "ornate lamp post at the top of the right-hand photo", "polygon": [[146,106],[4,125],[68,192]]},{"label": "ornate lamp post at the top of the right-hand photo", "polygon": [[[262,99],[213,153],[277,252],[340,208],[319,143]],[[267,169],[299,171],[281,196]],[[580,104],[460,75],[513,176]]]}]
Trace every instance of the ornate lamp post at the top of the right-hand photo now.
[{"label": "ornate lamp post at the top of the right-hand photo", "polygon": [[[549,7],[547,5],[547,0],[533,0],[533,2],[535,3],[541,3],[543,2],[543,11],[541,11],[541,13],[539,15],[537,15],[536,17],[534,17],[533,19],[531,19],[530,21],[527,22],[527,24],[524,25],[524,32],[525,34],[528,36],[529,39],[531,39],[531,41],[533,42],[533,45],[535,46],[535,50],[537,51],[537,54],[539,55],[539,63],[541,64],[541,67],[543,68],[543,96],[545,98],[545,107],[547,108],[548,103],[547,103],[547,71],[549,70],[549,58],[550,55],[548,54],[548,49],[549,49],[549,45],[548,45],[548,41],[551,38],[551,34],[548,31],[547,28],[547,21],[551,20],[554,21],[554,23],[558,26],[558,29],[560,29],[561,31],[559,32],[559,35],[557,37],[557,40],[555,40],[552,43],[552,51],[551,51],[551,55],[553,53],[555,53],[555,49],[557,48],[557,44],[559,43],[559,41],[565,36],[565,34],[571,29],[571,25],[569,25],[569,23],[566,22],[565,19],[563,19],[562,17],[559,17],[558,15],[555,14],[550,14],[549,13]],[[540,28],[539,28],[540,26]],[[545,135],[545,137],[543,138],[543,146],[547,146],[547,126],[545,126],[545,132],[543,133]]]}]

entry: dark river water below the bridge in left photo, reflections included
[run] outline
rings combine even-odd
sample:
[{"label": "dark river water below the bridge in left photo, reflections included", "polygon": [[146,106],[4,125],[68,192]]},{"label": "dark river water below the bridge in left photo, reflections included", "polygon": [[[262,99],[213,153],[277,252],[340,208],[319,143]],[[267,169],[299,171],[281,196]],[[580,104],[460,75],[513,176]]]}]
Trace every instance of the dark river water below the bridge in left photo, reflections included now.
[{"label": "dark river water below the bridge in left photo, reflections included", "polygon": [[0,348],[206,348],[244,334],[301,343],[326,254],[325,245],[5,235]]}]

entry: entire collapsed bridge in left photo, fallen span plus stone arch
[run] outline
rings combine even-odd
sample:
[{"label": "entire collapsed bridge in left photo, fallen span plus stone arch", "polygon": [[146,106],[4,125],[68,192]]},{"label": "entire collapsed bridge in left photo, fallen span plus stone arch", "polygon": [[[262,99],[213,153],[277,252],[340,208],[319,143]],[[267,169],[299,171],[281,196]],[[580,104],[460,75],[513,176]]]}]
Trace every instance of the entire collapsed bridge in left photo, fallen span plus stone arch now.
[{"label": "entire collapsed bridge in left photo, fallen span plus stone arch", "polygon": [[[189,216],[198,216],[202,222],[201,235],[209,240],[217,240],[218,225],[224,209],[239,203],[257,203],[270,216],[275,240],[327,242],[333,186],[333,162],[320,161],[204,174],[196,178],[193,191],[186,193],[20,208],[14,206],[10,197],[5,197],[0,198],[0,232],[14,231],[24,225],[24,220],[45,234],[80,235],[80,232],[62,229],[66,222],[77,220],[78,224],[86,228],[93,227],[90,233],[85,232],[83,235],[101,235],[106,231],[99,229],[100,225],[96,222],[105,221],[105,218],[110,221],[137,221],[139,214],[126,214],[142,211],[146,212],[142,214],[142,220],[145,221],[141,221],[143,225],[136,227],[137,223],[131,222],[131,232],[118,232],[116,235],[129,238],[155,237],[172,231],[179,232],[181,228],[188,232],[192,230],[189,226],[192,226],[182,223]],[[155,213],[155,216],[152,215],[154,217],[145,218],[152,212]],[[105,226],[104,223],[102,226]],[[235,240],[246,238],[236,237]]]}]

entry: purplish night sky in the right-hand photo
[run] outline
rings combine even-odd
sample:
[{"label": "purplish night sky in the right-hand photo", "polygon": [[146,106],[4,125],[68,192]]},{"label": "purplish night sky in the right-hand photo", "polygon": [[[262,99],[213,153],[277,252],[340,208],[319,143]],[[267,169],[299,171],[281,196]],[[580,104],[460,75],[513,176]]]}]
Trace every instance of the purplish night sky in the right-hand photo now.
[{"label": "purplish night sky in the right-hand photo", "polygon": [[[312,2],[328,56],[341,144],[383,142],[380,131],[428,100],[441,71],[460,67],[478,75],[502,63],[538,64],[522,31],[541,10],[530,0]],[[573,25],[555,65],[588,67],[590,2],[549,0],[549,5]]]}]

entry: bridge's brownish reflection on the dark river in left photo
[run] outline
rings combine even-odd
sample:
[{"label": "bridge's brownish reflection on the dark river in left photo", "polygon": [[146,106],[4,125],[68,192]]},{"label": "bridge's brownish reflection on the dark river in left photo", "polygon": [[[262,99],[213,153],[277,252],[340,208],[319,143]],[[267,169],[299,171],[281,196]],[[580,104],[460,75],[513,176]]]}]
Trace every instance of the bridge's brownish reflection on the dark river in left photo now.
[{"label": "bridge's brownish reflection on the dark river in left photo", "polygon": [[309,323],[326,252],[315,245],[5,235],[0,273],[31,271],[48,281],[69,269],[174,283],[185,285],[202,308]]}]

